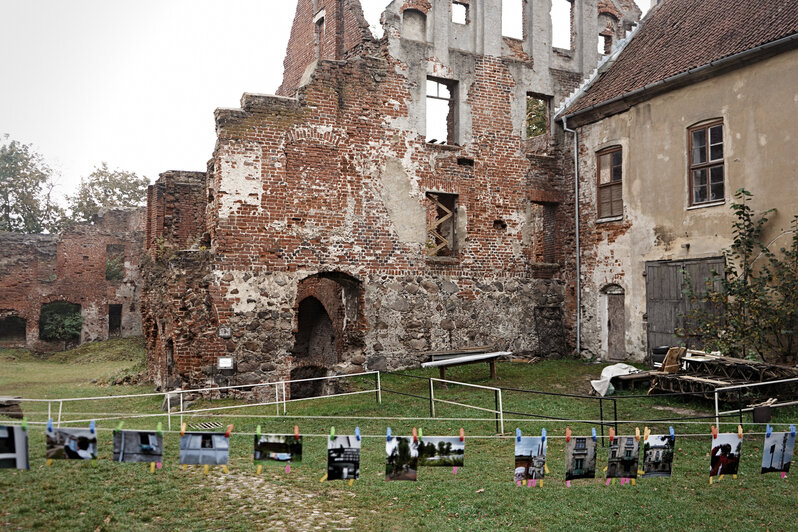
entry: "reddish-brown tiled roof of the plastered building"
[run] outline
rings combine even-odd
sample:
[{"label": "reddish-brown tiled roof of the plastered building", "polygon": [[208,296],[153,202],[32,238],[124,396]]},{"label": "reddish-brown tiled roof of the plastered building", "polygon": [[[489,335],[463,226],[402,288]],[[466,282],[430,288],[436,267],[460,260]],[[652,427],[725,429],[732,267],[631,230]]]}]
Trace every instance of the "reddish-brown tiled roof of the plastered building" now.
[{"label": "reddish-brown tiled roof of the plastered building", "polygon": [[795,33],[797,0],[660,0],[565,114]]}]

